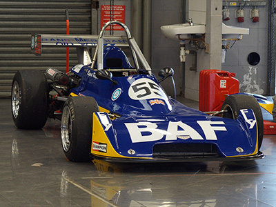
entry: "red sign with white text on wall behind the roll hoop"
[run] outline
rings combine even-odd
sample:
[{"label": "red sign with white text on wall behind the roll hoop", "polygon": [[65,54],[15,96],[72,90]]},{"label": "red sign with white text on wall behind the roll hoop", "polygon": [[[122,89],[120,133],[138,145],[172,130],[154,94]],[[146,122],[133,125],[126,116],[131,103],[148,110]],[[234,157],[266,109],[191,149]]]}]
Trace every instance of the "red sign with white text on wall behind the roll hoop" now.
[{"label": "red sign with white text on wall behind the roll hoop", "polygon": [[[121,21],[122,23],[125,23],[125,6],[115,5],[113,12],[112,12],[112,6],[111,6],[111,19],[118,20],[118,21]],[[110,6],[101,5],[101,27],[108,21],[110,21]],[[110,26],[106,28],[106,30],[110,30]],[[119,25],[114,25],[113,30],[124,30],[124,29],[121,28],[121,26]]]}]

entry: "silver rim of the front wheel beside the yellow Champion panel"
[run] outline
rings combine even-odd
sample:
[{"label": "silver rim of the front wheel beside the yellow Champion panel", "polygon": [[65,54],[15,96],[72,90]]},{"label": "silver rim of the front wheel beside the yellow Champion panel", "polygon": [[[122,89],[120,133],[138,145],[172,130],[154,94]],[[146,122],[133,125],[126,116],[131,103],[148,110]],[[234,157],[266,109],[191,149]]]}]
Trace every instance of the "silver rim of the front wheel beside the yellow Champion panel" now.
[{"label": "silver rim of the front wheel beside the yellow Champion panel", "polygon": [[68,152],[71,145],[72,134],[72,116],[70,108],[65,106],[61,118],[61,142],[62,148],[65,152]]}]

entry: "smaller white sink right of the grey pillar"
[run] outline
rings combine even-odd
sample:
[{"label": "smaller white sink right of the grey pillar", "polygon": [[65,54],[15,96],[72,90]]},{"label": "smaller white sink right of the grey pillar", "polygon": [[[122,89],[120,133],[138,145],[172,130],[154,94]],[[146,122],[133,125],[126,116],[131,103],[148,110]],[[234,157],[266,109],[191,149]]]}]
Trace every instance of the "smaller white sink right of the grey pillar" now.
[{"label": "smaller white sink right of the grey pillar", "polygon": [[241,36],[241,34],[249,34],[249,28],[227,26],[222,23],[221,34],[222,39],[237,39]]}]

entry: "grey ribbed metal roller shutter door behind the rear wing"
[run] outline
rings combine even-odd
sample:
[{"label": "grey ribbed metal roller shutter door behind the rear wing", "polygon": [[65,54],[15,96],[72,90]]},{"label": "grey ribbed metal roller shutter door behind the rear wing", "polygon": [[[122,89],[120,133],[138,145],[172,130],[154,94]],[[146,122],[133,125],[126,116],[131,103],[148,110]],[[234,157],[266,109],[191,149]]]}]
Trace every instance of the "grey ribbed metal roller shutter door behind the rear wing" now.
[{"label": "grey ribbed metal roller shutter door behind the rear wing", "polygon": [[[70,34],[91,34],[91,0],[0,1],[0,97],[10,96],[17,70],[66,70],[66,48],[43,48],[41,57],[30,52],[32,33],[66,34],[66,9]],[[70,49],[69,66],[75,63]]]}]

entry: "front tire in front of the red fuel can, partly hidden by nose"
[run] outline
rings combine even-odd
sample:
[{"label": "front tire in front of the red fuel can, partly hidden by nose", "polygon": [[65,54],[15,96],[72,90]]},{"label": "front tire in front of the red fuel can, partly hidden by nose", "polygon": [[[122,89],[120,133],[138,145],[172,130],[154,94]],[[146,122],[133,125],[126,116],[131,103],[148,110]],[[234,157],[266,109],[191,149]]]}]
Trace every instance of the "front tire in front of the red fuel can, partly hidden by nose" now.
[{"label": "front tire in front of the red fuel can, partly hidden by nose", "polygon": [[229,119],[237,119],[239,116],[239,110],[250,108],[253,110],[257,119],[258,128],[258,146],[261,148],[264,137],[264,119],[262,110],[258,101],[251,95],[230,95],[226,97],[224,103],[221,106],[221,110],[227,110],[221,117]]}]

